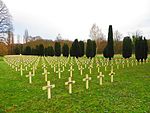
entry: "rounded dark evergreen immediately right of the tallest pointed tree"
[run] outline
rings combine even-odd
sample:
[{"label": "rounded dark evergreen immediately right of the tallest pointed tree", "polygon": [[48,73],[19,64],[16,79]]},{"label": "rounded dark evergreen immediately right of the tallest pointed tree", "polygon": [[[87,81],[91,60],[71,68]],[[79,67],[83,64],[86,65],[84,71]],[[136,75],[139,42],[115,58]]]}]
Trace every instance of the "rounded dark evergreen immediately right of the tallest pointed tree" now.
[{"label": "rounded dark evergreen immediately right of the tallest pointed tree", "polygon": [[128,36],[123,39],[122,56],[124,58],[130,58],[132,56],[132,40]]}]

